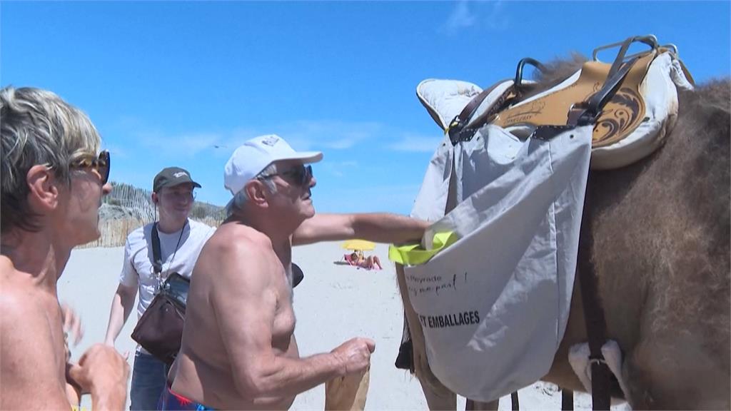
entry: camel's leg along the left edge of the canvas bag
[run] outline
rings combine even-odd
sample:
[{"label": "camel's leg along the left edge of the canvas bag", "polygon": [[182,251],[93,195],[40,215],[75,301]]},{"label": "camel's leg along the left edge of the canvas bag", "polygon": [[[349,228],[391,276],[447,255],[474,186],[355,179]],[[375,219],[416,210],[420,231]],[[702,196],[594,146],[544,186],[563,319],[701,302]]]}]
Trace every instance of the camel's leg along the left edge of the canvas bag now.
[{"label": "camel's leg along the left edge of the canvas bag", "polygon": [[412,337],[414,350],[414,374],[419,379],[421,388],[424,391],[426,402],[430,410],[455,410],[457,408],[457,396],[449,388],[440,382],[429,368],[426,358],[426,342],[424,331],[421,328],[416,312],[411,305],[409,291],[406,287],[406,276],[404,266],[396,264],[396,278],[398,279],[398,290],[404,302],[404,314],[406,323],[409,324],[409,331]]}]

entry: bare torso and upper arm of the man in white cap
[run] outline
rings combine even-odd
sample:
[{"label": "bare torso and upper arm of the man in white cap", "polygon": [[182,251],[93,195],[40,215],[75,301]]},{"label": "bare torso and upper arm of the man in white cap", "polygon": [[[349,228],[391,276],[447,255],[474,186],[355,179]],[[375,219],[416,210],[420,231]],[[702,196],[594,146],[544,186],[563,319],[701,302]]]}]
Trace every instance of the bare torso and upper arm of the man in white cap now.
[{"label": "bare torso and upper arm of the man in white cap", "polygon": [[[286,409],[292,404],[294,396],[245,398],[231,364],[241,355],[252,367],[261,355],[299,358],[288,265],[268,237],[246,225],[229,222],[216,230],[193,271],[173,391],[216,408]],[[257,339],[267,334],[270,338]],[[224,339],[237,343],[227,347]]]}]

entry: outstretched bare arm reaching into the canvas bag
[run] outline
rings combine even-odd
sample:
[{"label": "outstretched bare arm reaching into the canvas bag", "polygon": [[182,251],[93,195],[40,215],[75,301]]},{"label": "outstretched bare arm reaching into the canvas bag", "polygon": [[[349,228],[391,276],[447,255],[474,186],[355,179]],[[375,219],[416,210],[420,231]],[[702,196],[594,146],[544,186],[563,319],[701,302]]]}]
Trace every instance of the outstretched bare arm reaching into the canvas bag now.
[{"label": "outstretched bare arm reaching into the canvas bag", "polygon": [[351,238],[376,243],[419,241],[430,223],[390,213],[315,214],[292,235],[292,245]]}]

